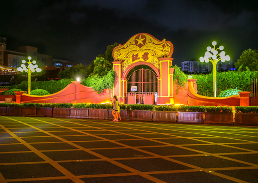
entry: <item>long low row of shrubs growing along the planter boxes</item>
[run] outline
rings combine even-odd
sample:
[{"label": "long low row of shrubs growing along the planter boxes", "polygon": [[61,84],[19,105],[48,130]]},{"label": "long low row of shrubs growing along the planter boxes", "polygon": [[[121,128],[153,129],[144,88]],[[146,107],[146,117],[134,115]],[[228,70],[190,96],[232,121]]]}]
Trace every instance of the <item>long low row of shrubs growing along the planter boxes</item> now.
[{"label": "long low row of shrubs growing along the planter boxes", "polygon": [[[232,112],[232,107],[226,106],[167,106],[167,105],[133,105],[120,104],[120,109],[131,110],[156,110],[156,111],[182,111],[182,112]],[[24,108],[91,108],[91,109],[113,109],[113,104],[71,104],[71,103],[0,103],[0,107],[24,107]],[[258,113],[258,106],[237,106],[236,112]]]}]

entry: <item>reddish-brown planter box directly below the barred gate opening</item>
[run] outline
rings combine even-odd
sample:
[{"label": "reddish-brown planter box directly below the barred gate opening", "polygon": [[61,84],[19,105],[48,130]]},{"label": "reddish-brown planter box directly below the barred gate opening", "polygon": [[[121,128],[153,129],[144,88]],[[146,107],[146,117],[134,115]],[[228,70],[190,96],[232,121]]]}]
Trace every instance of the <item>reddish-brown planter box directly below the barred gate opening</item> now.
[{"label": "reddish-brown planter box directly below the barred gate opening", "polygon": [[129,110],[129,120],[152,121],[152,111]]}]

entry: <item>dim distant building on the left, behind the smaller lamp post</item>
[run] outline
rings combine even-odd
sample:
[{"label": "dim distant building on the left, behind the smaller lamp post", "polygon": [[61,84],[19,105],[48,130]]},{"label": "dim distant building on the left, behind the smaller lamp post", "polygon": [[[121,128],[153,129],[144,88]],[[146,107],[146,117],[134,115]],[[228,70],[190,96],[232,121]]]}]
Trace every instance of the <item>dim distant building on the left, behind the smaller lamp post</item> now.
[{"label": "dim distant building on the left, behind the smaller lamp post", "polygon": [[[51,55],[38,53],[38,48],[32,46],[20,46],[18,47],[18,51],[7,50],[6,38],[0,37],[0,66],[18,68],[21,65],[21,61],[24,59],[27,60],[28,56],[31,56],[32,60],[36,60],[36,63],[40,67],[56,67],[58,64],[60,67],[71,67],[76,65],[75,62],[55,58],[53,59]],[[56,63],[58,64],[56,65]]]}]

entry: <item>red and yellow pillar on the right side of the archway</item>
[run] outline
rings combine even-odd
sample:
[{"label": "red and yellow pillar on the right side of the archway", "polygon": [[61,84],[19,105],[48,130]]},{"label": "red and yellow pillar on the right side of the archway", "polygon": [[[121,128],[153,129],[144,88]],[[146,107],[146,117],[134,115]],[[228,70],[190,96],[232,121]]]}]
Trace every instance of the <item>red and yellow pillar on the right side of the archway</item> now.
[{"label": "red and yellow pillar on the right side of the archway", "polygon": [[173,69],[171,57],[160,59],[160,78],[158,78],[158,98],[157,104],[174,104],[173,96]]}]

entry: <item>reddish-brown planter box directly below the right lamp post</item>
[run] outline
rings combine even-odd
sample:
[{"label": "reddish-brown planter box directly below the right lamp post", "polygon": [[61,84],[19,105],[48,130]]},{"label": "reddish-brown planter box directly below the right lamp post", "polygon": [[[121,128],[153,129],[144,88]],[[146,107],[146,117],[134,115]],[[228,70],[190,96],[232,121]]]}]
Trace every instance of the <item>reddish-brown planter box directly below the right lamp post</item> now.
[{"label": "reddish-brown planter box directly below the right lamp post", "polygon": [[204,124],[233,125],[232,112],[205,112]]}]

